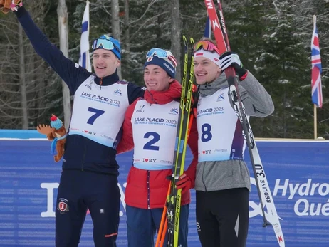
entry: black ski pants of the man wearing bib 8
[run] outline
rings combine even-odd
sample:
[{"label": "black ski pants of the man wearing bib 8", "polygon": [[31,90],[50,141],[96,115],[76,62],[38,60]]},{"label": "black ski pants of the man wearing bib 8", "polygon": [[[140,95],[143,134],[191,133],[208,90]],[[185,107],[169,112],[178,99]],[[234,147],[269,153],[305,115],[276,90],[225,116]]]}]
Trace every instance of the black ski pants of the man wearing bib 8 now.
[{"label": "black ski pants of the man wearing bib 8", "polygon": [[197,191],[197,231],[203,247],[245,247],[249,190]]}]

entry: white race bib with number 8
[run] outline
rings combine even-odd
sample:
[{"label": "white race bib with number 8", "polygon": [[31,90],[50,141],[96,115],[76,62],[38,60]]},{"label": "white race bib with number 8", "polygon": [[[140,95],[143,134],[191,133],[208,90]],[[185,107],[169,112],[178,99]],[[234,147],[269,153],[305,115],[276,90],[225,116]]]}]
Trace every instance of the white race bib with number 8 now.
[{"label": "white race bib with number 8", "polygon": [[197,107],[199,162],[243,159],[245,141],[231,107],[229,88],[200,97]]}]

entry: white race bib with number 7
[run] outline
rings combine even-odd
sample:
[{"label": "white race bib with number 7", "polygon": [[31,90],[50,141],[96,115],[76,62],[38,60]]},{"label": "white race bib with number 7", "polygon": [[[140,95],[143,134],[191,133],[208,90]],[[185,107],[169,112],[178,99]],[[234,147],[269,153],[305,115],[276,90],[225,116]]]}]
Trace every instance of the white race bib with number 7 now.
[{"label": "white race bib with number 7", "polygon": [[100,86],[94,78],[91,75],[75,92],[68,135],[82,135],[114,147],[129,106],[127,83]]}]

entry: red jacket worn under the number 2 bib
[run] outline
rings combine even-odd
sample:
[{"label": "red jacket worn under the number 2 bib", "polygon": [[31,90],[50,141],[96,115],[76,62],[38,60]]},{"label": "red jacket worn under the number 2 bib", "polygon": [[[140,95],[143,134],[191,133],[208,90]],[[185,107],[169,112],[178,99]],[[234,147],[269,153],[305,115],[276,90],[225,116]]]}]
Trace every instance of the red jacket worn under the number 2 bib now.
[{"label": "red jacket worn under the number 2 bib", "polygon": [[[167,91],[159,92],[145,90],[144,98],[147,103],[164,105],[172,102],[172,100],[179,100],[181,91],[181,85],[174,80],[173,83],[170,83]],[[128,107],[127,112],[125,113],[122,139],[117,146],[118,154],[130,151],[134,147],[131,117],[135,110],[137,100]],[[193,160],[185,172],[192,180],[192,188],[194,187],[195,172],[197,168],[197,141],[197,121],[194,120],[189,133],[189,140],[187,142],[192,151]],[[127,177],[127,187],[125,189],[125,203],[129,206],[135,206],[140,209],[163,208],[169,187],[167,176],[170,176],[171,174],[172,169],[147,171],[131,167]],[[182,194],[182,205],[189,204],[190,201],[189,191]]]}]

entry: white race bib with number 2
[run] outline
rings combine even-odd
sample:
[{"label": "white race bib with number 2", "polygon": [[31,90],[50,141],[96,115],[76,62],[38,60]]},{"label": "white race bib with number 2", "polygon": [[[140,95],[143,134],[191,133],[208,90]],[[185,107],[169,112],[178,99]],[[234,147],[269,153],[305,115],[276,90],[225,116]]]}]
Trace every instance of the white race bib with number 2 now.
[{"label": "white race bib with number 2", "polygon": [[179,103],[165,105],[139,100],[132,114],[134,167],[145,170],[171,169],[177,135]]}]

